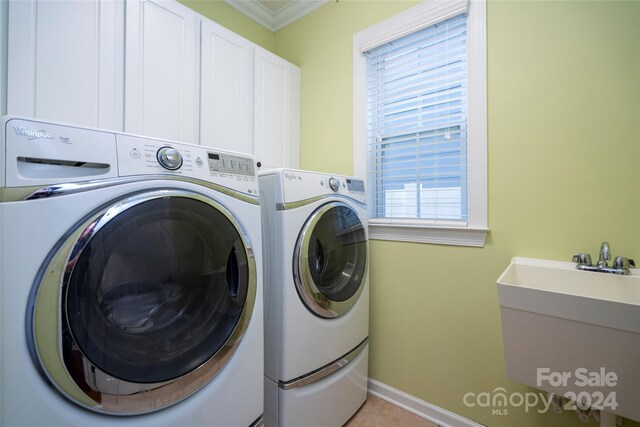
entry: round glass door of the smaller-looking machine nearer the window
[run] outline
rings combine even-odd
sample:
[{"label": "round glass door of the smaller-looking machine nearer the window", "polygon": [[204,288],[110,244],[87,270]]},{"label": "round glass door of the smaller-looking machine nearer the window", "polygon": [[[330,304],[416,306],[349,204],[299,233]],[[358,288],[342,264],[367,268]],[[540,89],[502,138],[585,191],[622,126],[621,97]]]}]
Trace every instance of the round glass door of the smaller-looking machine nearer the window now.
[{"label": "round glass door of the smaller-looking machine nearer the window", "polygon": [[309,217],[296,244],[294,279],[300,298],[318,316],[340,316],[356,303],[366,271],[362,221],[344,203],[322,205]]}]

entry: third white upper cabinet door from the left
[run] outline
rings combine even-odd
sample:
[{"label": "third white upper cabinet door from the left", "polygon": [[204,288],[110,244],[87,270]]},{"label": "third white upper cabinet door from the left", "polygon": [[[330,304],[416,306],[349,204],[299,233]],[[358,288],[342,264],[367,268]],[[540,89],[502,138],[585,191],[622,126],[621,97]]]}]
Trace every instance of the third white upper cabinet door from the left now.
[{"label": "third white upper cabinet door from the left", "polygon": [[200,144],[253,154],[253,44],[203,19]]}]

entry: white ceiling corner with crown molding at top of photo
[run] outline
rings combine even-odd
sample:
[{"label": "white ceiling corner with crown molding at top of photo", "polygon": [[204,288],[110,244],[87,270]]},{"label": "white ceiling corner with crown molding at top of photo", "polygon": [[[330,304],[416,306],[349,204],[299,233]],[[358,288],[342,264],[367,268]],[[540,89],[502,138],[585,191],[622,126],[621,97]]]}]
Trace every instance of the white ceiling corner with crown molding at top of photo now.
[{"label": "white ceiling corner with crown molding at top of photo", "polygon": [[313,12],[330,0],[224,0],[229,6],[263,25],[278,31]]}]

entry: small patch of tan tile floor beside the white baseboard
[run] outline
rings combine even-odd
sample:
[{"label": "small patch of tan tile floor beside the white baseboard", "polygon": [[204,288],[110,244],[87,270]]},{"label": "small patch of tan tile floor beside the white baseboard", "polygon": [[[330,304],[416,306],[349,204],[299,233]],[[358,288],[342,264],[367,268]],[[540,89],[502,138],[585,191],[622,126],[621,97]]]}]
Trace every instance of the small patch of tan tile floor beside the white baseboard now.
[{"label": "small patch of tan tile floor beside the white baseboard", "polygon": [[364,405],[345,427],[438,427],[430,421],[407,412],[385,400],[368,395]]}]

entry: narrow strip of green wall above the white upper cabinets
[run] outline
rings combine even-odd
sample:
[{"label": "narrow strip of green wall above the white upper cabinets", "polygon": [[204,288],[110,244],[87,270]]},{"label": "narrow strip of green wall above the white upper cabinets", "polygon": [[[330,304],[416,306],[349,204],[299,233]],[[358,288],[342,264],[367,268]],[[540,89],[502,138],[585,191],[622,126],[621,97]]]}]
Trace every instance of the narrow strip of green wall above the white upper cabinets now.
[{"label": "narrow strip of green wall above the white upper cabinets", "polygon": [[178,1],[267,50],[273,51],[275,49],[275,35],[271,31],[247,18],[223,0]]}]

